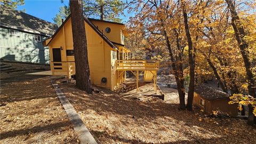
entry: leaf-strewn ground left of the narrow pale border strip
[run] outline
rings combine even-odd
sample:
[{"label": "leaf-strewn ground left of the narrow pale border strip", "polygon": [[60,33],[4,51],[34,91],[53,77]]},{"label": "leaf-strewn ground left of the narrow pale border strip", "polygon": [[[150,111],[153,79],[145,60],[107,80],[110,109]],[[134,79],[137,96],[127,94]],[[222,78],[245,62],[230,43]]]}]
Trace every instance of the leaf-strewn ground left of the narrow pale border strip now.
[{"label": "leaf-strewn ground left of the narrow pale border strip", "polygon": [[50,77],[25,75],[36,71],[1,71],[0,143],[79,143]]}]

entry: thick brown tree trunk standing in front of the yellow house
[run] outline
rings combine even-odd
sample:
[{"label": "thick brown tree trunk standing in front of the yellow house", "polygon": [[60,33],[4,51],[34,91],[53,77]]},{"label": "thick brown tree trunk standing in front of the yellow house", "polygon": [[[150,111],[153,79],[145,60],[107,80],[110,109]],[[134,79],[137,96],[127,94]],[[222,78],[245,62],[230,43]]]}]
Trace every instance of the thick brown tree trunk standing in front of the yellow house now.
[{"label": "thick brown tree trunk standing in front of the yellow house", "polygon": [[92,94],[82,2],[69,1],[76,64],[76,86]]}]

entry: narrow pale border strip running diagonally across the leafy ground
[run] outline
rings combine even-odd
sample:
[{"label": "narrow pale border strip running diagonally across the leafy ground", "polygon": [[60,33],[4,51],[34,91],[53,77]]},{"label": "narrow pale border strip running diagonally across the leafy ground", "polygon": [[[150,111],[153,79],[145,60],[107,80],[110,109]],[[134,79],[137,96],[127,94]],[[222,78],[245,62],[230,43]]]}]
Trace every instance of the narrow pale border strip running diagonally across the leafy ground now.
[{"label": "narrow pale border strip running diagonally across the leafy ground", "polygon": [[69,121],[73,124],[74,130],[76,134],[78,135],[78,138],[81,142],[81,144],[84,143],[97,143],[95,139],[93,138],[90,131],[87,129],[87,127],[84,125],[82,119],[79,117],[79,115],[76,113],[76,110],[71,105],[71,103],[66,98],[65,94],[59,89],[59,85],[55,81],[51,81],[52,87],[54,88],[56,94],[58,95],[58,98],[66,111]]}]

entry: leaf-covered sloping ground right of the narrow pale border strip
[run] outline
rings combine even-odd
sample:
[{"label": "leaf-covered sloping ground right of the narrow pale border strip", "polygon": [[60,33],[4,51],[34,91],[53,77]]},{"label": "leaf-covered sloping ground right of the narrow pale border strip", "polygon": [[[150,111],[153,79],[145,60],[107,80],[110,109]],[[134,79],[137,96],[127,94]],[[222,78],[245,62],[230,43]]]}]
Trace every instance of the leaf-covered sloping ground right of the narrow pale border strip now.
[{"label": "leaf-covered sloping ground right of the narrow pale border strip", "polygon": [[211,118],[196,107],[180,111],[175,94],[166,101],[143,102],[60,85],[99,143],[256,143],[255,126],[242,119]]}]

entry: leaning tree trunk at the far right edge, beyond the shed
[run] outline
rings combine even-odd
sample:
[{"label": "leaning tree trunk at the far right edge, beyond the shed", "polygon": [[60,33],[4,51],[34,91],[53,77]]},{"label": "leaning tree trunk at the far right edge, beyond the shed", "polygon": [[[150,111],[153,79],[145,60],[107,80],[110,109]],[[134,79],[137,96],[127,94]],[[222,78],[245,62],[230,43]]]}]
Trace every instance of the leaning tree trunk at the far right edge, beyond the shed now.
[{"label": "leaning tree trunk at the far right edge, beyond the shed", "polygon": [[[245,31],[244,28],[242,26],[242,23],[239,20],[238,14],[235,10],[235,5],[233,4],[233,2],[231,0],[226,0],[227,4],[228,4],[228,8],[230,10],[231,13],[231,25],[235,31],[235,37],[236,37],[236,41],[238,43],[240,52],[242,54],[243,60],[244,60],[244,66],[246,69],[246,75],[247,75],[247,81],[248,81],[248,91],[249,94],[256,98],[256,93],[255,93],[255,82],[253,79],[253,74],[252,74],[252,70],[251,70],[251,62],[249,60],[249,51],[248,51],[248,47],[249,45],[247,44],[247,42],[245,41],[244,37],[245,37]],[[247,123],[249,125],[253,125],[254,123],[256,123],[256,117],[254,116],[253,118],[253,113],[252,110],[250,108],[251,106],[249,106],[249,118]],[[254,119],[254,122],[253,122]]]}]

